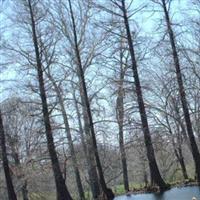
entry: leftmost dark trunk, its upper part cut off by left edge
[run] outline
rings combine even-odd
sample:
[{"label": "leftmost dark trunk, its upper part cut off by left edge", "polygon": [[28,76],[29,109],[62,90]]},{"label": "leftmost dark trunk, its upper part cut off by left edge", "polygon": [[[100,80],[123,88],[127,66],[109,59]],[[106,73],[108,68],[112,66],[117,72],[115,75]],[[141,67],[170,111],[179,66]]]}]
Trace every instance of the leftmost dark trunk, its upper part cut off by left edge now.
[{"label": "leftmost dark trunk, its upper part cut off by left edge", "polygon": [[8,191],[8,199],[9,200],[17,200],[17,196],[15,194],[15,190],[14,190],[14,186],[13,186],[12,178],[11,178],[11,174],[10,174],[10,169],[9,169],[9,165],[8,165],[5,133],[4,133],[1,110],[0,110],[0,142],[1,142],[3,168],[4,168],[5,178],[6,178],[7,191]]}]

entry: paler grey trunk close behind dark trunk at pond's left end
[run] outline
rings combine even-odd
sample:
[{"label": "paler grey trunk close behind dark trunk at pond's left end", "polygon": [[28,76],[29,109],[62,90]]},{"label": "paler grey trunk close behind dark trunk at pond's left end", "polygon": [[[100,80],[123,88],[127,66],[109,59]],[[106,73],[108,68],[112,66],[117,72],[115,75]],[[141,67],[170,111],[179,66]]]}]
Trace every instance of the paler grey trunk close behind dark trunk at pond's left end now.
[{"label": "paler grey trunk close behind dark trunk at pond's left end", "polygon": [[[80,92],[80,95],[81,92]],[[73,92],[73,98],[74,98],[74,103],[75,103],[75,108],[76,108],[76,113],[77,113],[77,117],[78,117],[78,124],[79,124],[79,133],[81,136],[81,142],[83,145],[83,151],[85,153],[86,156],[86,164],[87,164],[87,169],[88,169],[88,176],[89,176],[89,183],[90,183],[90,188],[91,188],[91,192],[92,192],[92,196],[93,199],[98,199],[99,195],[100,195],[100,187],[99,187],[99,181],[98,181],[98,174],[97,174],[97,170],[96,170],[96,163],[95,163],[95,159],[94,159],[94,154],[93,154],[93,147],[91,146],[91,142],[88,141],[87,144],[85,143],[85,137],[84,137],[84,131],[83,131],[83,127],[82,127],[82,122],[81,122],[81,113],[79,111],[79,107],[78,107],[78,102],[76,99],[76,95],[75,95],[75,90]],[[82,99],[83,97],[81,97]],[[82,101],[83,103],[83,101]],[[84,111],[85,113],[85,111]],[[84,118],[84,122],[85,122],[85,133],[87,136],[87,140],[90,140],[90,132],[88,130],[89,127],[87,121],[87,117],[83,116]]]}]

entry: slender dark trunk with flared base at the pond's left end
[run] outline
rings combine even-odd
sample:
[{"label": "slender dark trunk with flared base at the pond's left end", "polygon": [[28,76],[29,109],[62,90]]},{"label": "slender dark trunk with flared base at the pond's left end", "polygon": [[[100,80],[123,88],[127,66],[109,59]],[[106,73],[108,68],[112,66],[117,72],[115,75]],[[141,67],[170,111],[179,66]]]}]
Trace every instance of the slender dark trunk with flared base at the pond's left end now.
[{"label": "slender dark trunk with flared base at the pond's left end", "polygon": [[98,154],[98,148],[97,148],[96,136],[95,136],[95,131],[94,131],[92,113],[91,113],[91,109],[90,109],[90,102],[89,102],[89,98],[88,98],[88,94],[87,94],[84,71],[83,71],[79,47],[78,47],[76,24],[75,24],[74,14],[73,14],[73,10],[72,10],[71,0],[68,0],[68,2],[69,2],[69,7],[70,7],[72,27],[73,27],[75,54],[76,54],[76,60],[77,60],[78,75],[79,75],[79,78],[80,78],[79,81],[80,81],[81,91],[83,92],[83,96],[84,96],[83,106],[86,108],[86,111],[87,111],[87,117],[88,117],[88,122],[89,122],[90,133],[91,133],[91,143],[93,145],[93,150],[94,150],[94,155],[95,155],[95,160],[96,160],[96,165],[97,165],[97,170],[98,170],[98,175],[99,175],[99,182],[100,182],[100,185],[101,185],[101,188],[103,190],[105,197],[107,199],[113,199],[114,193],[112,192],[111,189],[107,188],[107,185],[106,185],[106,182],[105,182],[105,179],[104,179],[103,169],[102,169],[99,154]]}]

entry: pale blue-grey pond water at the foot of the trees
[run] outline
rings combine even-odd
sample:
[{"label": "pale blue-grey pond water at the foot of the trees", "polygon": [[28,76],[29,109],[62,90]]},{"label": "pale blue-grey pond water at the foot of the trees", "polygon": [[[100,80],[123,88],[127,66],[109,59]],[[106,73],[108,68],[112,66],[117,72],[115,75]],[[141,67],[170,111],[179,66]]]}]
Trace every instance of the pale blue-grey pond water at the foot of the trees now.
[{"label": "pale blue-grey pond water at the foot of the trees", "polygon": [[171,190],[157,194],[123,195],[116,197],[115,200],[192,200],[192,197],[200,200],[200,187],[172,188]]}]

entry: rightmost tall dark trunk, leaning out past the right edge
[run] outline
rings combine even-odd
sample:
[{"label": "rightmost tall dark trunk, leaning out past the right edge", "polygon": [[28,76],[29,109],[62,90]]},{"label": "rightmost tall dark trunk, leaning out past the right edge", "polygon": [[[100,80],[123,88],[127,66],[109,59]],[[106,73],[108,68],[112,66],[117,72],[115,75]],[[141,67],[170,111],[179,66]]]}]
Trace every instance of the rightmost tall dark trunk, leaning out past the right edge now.
[{"label": "rightmost tall dark trunk, leaning out past the right edge", "polygon": [[167,31],[168,31],[168,35],[169,35],[169,39],[170,39],[171,48],[172,48],[174,66],[176,69],[176,77],[177,77],[177,82],[178,82],[178,87],[179,87],[179,94],[180,94],[180,98],[181,98],[185,123],[186,123],[186,127],[187,127],[187,133],[188,133],[188,137],[189,137],[190,144],[191,144],[192,155],[193,155],[193,159],[194,159],[194,163],[195,163],[197,181],[200,184],[200,153],[199,153],[199,149],[198,149],[197,143],[195,141],[195,136],[194,136],[193,129],[192,129],[192,123],[191,123],[191,119],[190,119],[190,113],[189,113],[189,109],[188,109],[185,88],[183,85],[179,56],[177,53],[174,32],[173,32],[173,29],[171,26],[169,13],[168,13],[167,6],[166,6],[166,0],[162,0],[162,7],[164,10],[164,14],[165,14]]}]

